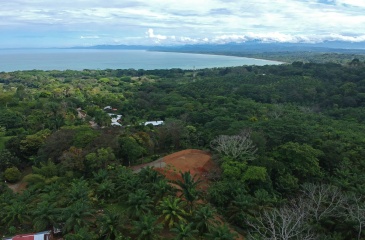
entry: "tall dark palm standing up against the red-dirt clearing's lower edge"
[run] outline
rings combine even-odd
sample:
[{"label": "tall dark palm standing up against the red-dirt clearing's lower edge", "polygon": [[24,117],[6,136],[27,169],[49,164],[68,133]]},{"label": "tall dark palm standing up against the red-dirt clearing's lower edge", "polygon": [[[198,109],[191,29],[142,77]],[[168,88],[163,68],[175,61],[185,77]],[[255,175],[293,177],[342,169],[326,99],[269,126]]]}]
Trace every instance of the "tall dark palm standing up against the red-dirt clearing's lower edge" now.
[{"label": "tall dark palm standing up against the red-dirt clearing's lower edge", "polygon": [[190,171],[181,173],[181,180],[174,181],[181,188],[182,196],[189,203],[190,210],[192,210],[193,203],[199,199],[200,191],[197,189],[202,180],[197,179],[196,176],[191,176]]}]

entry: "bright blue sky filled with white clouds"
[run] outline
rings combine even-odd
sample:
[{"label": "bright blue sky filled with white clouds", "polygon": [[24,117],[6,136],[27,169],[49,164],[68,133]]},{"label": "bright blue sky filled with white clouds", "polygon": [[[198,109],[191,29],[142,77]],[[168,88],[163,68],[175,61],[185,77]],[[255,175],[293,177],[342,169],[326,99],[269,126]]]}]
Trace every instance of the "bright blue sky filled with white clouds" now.
[{"label": "bright blue sky filled with white clouds", "polygon": [[0,0],[0,48],[365,41],[365,0]]}]

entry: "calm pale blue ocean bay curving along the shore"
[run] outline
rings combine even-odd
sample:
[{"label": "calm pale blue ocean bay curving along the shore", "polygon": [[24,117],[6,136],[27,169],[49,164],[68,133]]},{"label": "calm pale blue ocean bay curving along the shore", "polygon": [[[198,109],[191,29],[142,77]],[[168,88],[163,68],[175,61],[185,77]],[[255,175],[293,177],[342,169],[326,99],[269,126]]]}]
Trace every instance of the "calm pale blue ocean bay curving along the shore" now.
[{"label": "calm pale blue ocean bay curving along the shore", "polygon": [[99,49],[0,49],[0,72],[83,69],[202,69],[281,62],[208,54]]}]

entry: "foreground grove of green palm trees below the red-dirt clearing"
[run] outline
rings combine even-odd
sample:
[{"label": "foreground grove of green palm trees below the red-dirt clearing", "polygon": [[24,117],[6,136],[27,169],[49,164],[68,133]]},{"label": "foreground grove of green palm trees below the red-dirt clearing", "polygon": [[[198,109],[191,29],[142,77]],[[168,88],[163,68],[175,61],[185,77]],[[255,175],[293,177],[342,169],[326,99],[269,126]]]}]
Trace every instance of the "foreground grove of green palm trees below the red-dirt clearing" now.
[{"label": "foreground grove of green palm trees below the red-dirt clearing", "polygon": [[0,223],[8,233],[55,227],[66,239],[235,237],[215,208],[203,204],[200,181],[189,172],[173,185],[151,168],[133,173],[123,166],[70,181],[48,162],[33,167],[25,181],[22,194],[1,186]]}]

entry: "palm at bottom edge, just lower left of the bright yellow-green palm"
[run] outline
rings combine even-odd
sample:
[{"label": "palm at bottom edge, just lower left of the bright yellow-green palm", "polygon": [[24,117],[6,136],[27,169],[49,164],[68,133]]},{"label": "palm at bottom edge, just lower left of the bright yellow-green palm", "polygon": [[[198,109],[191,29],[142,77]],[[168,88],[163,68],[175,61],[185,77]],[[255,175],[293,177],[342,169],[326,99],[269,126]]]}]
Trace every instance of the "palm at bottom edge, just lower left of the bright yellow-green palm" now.
[{"label": "palm at bottom edge, just lower left of the bright yellow-green palm", "polygon": [[155,240],[158,233],[162,230],[162,225],[156,223],[157,218],[147,214],[140,218],[139,221],[133,222],[132,233],[137,235],[137,240]]}]

